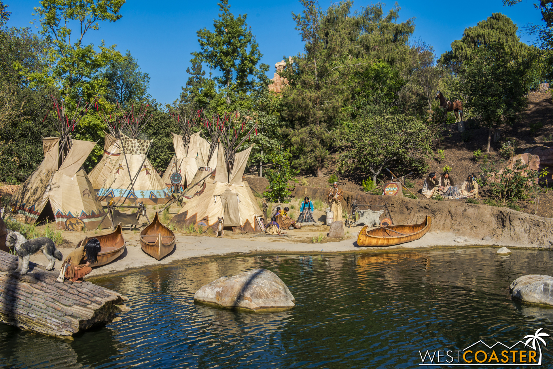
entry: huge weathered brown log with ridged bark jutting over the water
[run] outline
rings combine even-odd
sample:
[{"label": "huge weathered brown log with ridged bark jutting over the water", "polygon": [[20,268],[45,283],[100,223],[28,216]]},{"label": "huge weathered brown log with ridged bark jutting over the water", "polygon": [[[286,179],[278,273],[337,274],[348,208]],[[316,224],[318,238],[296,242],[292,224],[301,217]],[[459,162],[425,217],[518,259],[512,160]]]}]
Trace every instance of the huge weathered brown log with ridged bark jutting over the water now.
[{"label": "huge weathered brown log with ridged bark jutting over the water", "polygon": [[128,298],[90,282],[58,282],[59,270],[29,262],[29,272],[14,272],[18,257],[0,251],[0,321],[48,336],[72,335],[121,318]]}]

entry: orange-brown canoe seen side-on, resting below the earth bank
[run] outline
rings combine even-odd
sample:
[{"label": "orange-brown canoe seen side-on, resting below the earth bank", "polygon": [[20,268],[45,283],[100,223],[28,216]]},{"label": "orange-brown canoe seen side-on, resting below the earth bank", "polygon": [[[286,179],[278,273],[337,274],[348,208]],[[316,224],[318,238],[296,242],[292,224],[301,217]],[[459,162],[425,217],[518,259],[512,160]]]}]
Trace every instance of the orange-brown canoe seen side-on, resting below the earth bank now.
[{"label": "orange-brown canoe seen side-on, resting below the earth bank", "polygon": [[426,215],[420,224],[389,225],[367,230],[364,226],[357,235],[357,245],[363,247],[378,247],[399,245],[418,240],[430,230],[432,219]]}]

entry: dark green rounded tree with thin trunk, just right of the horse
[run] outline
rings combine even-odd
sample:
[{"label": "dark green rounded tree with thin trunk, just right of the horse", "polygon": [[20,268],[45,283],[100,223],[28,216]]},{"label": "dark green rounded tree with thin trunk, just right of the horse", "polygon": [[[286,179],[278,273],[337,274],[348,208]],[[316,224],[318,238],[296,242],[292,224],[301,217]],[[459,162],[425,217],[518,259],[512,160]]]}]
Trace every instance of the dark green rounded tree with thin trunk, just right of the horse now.
[{"label": "dark green rounded tree with thin trunk, just right of the horse", "polygon": [[463,63],[462,93],[466,106],[489,128],[487,152],[494,126],[512,125],[526,107],[525,72],[524,64],[513,60],[503,44],[481,46]]}]

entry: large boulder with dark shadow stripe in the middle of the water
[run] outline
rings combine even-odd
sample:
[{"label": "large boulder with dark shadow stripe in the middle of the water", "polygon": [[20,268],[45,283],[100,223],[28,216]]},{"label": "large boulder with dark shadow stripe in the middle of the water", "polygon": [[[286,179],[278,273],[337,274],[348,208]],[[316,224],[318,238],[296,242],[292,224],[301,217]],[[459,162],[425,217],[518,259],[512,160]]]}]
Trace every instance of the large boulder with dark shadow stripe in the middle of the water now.
[{"label": "large boulder with dark shadow stripe in the middle of the water", "polygon": [[196,291],[194,301],[254,312],[281,312],[296,304],[286,284],[267,269],[253,269],[207,283]]}]

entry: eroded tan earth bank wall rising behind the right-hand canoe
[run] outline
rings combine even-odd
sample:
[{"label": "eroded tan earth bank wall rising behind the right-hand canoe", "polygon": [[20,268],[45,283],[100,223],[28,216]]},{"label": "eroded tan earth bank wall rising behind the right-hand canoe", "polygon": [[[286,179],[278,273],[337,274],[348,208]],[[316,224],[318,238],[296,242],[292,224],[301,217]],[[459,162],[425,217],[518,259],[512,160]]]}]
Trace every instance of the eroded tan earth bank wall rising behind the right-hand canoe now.
[{"label": "eroded tan earth bank wall rising behind the right-hand canoe", "polygon": [[[326,201],[326,191],[326,188],[296,186],[291,196]],[[552,247],[549,241],[553,239],[553,219],[503,207],[469,204],[462,200],[414,200],[344,191],[342,208],[349,214],[353,203],[382,205],[384,202],[388,202],[394,224],[418,224],[430,215],[430,231],[453,232],[476,239],[489,235],[495,245]]]}]

